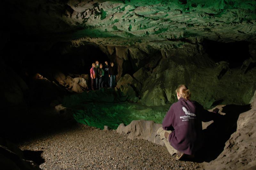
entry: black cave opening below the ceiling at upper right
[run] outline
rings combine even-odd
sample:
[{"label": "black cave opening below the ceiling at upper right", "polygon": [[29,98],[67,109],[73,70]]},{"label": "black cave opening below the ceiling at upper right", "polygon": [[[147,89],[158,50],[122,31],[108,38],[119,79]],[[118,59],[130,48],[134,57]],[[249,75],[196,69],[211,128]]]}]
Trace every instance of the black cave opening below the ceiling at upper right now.
[{"label": "black cave opening below the ceiling at upper right", "polygon": [[205,52],[214,62],[227,61],[229,68],[241,67],[244,60],[252,57],[249,53],[249,44],[247,41],[236,41],[222,43],[205,39],[203,46]]}]

